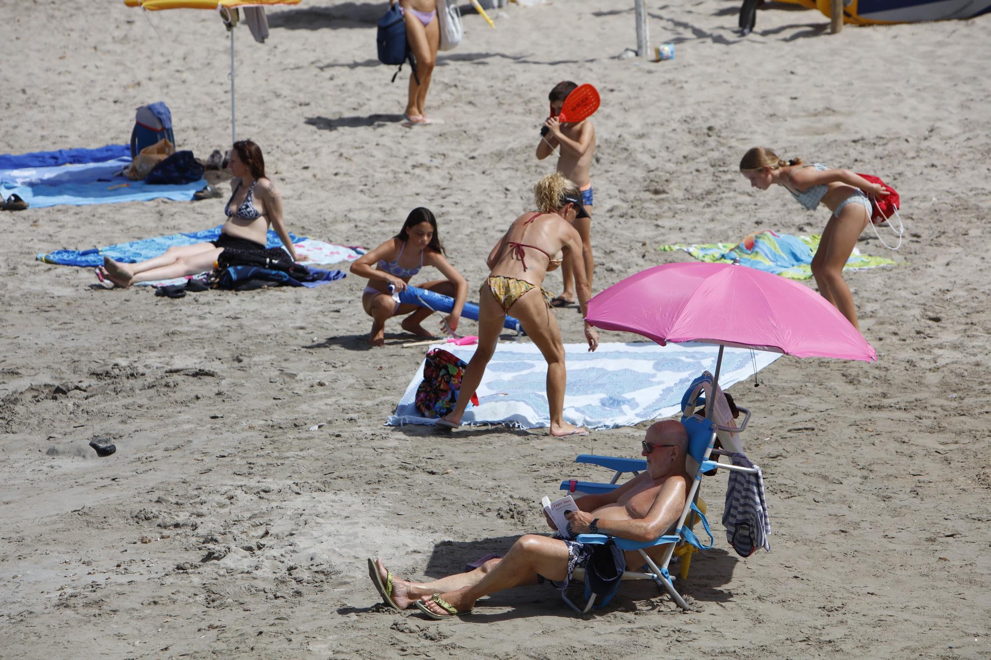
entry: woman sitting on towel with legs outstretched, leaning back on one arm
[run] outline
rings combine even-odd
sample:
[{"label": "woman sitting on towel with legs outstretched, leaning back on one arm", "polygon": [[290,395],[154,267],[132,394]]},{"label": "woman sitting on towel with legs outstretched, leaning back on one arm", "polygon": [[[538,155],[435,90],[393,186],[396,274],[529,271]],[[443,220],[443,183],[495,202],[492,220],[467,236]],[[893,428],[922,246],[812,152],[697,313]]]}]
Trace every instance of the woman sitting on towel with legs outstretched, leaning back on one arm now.
[{"label": "woman sitting on towel with legs outstretched, leaning back on one arm", "polygon": [[[139,281],[203,273],[213,269],[213,263],[225,249],[264,254],[268,250],[270,225],[292,261],[296,261],[295,249],[282,222],[282,196],[275,183],[265,176],[261,148],[251,140],[234,143],[230,167],[234,173],[231,179],[234,193],[224,207],[227,222],[216,241],[168,248],[164,255],[137,264],[123,264],[104,257],[96,276],[101,281],[109,280],[127,288]],[[281,248],[275,248],[275,251],[284,258]]]}]

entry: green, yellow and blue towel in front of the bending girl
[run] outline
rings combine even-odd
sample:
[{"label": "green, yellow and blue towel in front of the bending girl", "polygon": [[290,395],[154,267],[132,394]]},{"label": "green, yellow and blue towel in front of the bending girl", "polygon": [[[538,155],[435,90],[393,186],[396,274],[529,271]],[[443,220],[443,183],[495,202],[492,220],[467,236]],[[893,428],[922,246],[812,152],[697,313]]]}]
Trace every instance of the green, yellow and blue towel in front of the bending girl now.
[{"label": "green, yellow and blue towel in front of the bending girl", "polygon": [[[822,237],[791,236],[763,231],[750,234],[742,243],[710,243],[706,245],[662,245],[658,250],[673,252],[683,250],[701,262],[732,263],[739,260],[741,266],[747,266],[765,273],[773,273],[789,279],[808,279],[812,277],[812,258],[819,250]],[[846,260],[844,269],[860,271],[876,269],[882,266],[893,266],[895,262],[884,257],[862,255],[856,248]]]}]

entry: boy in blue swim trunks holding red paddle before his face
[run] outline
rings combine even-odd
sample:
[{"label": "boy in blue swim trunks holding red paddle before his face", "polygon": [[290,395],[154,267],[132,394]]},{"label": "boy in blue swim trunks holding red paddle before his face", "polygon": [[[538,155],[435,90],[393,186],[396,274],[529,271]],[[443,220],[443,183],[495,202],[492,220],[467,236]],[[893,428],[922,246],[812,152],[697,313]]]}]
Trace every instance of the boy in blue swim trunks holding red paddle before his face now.
[{"label": "boy in blue swim trunks holding red paddle before his face", "polygon": [[[591,95],[583,93],[590,88]],[[570,99],[569,103],[569,96],[576,89],[579,93],[575,98]],[[543,161],[560,147],[557,170],[582,189],[582,204],[590,217],[576,220],[574,226],[582,237],[582,258],[585,263],[586,280],[591,289],[592,272],[596,264],[592,257],[593,194],[589,167],[596,153],[596,129],[588,116],[599,107],[599,94],[592,85],[582,85],[579,88],[574,82],[565,80],[554,86],[548,98],[551,102],[550,117],[540,129],[537,160]],[[565,111],[563,117],[562,110]],[[570,121],[573,117],[579,121]],[[575,304],[575,274],[571,264],[565,261],[561,271],[564,275],[564,291],[551,300],[551,305],[555,307]]]}]

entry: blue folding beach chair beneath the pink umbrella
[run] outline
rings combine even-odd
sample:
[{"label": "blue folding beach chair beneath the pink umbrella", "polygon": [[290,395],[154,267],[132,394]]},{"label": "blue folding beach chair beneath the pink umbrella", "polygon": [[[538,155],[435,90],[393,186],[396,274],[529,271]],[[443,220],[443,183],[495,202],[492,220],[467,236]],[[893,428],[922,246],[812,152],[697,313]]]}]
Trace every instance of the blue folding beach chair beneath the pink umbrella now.
[{"label": "blue folding beach chair beneath the pink umbrella", "polygon": [[[733,451],[725,451],[715,449],[716,437],[720,437],[723,446],[726,443],[730,443],[732,449],[739,451],[742,448],[739,446],[739,439],[737,434],[746,428],[747,422],[750,420],[750,411],[746,408],[738,407],[741,412],[744,412],[746,416],[743,419],[743,423],[739,427],[729,426],[729,425],[718,425],[710,418],[703,418],[699,415],[691,414],[694,410],[695,405],[701,405],[703,402],[703,390],[705,385],[709,384],[711,387],[713,377],[708,372],[703,374],[701,377],[695,380],[692,385],[689,386],[688,391],[686,391],[685,396],[682,399],[682,410],[683,414],[681,418],[681,423],[685,426],[685,430],[688,432],[688,457],[686,457],[686,472],[690,475],[694,475],[694,480],[692,486],[689,490],[689,495],[686,498],[685,507],[682,509],[681,515],[678,518],[678,522],[674,525],[669,533],[664,534],[653,541],[642,542],[642,541],[631,541],[628,539],[609,537],[606,534],[580,534],[577,538],[579,542],[582,543],[594,543],[594,544],[604,544],[609,538],[615,542],[616,546],[622,550],[637,550],[643,557],[644,566],[641,571],[626,571],[623,574],[623,580],[653,580],[659,588],[664,589],[672,598],[672,600],[681,606],[683,609],[688,609],[689,606],[685,603],[685,600],[681,597],[678,591],[674,587],[674,578],[668,572],[668,566],[671,563],[672,558],[680,557],[681,559],[681,579],[685,580],[688,578],[688,567],[691,562],[692,553],[697,550],[707,550],[713,547],[713,534],[709,526],[709,521],[705,516],[705,502],[698,497],[699,486],[702,482],[704,473],[712,472],[713,470],[731,470],[739,472],[756,472],[759,468],[741,468],[739,466],[729,465],[725,463],[718,463],[718,456],[729,456]],[[716,397],[714,397],[716,398]],[[712,415],[712,409],[707,406],[707,413]],[[718,435],[717,435],[718,434]],[[715,455],[715,456],[714,456]],[[715,459],[715,460],[714,460]],[[640,472],[647,469],[646,461],[642,459],[627,459],[627,458],[616,458],[610,456],[595,456],[592,454],[582,454],[575,459],[576,463],[585,463],[590,465],[598,465],[609,470],[612,470],[615,474],[612,476],[612,480],[607,483],[597,483],[597,482],[583,482],[577,480],[566,480],[561,483],[562,491],[569,491],[572,493],[584,493],[588,495],[608,493],[616,488],[618,488],[617,482],[621,475],[631,473],[636,476]],[[693,470],[694,468],[694,470]],[[697,499],[699,503],[697,503]],[[700,505],[701,504],[701,505]],[[694,522],[701,521],[703,528],[709,535],[709,544],[703,545],[695,532],[692,531],[692,526]],[[655,563],[645,552],[648,548],[656,547],[659,545],[667,545],[667,549],[664,553],[663,560],[660,565]],[[576,578],[581,579],[581,574],[576,571]],[[572,609],[580,613],[587,613],[596,604],[596,600],[599,599],[600,603],[595,606],[604,606],[611,598],[612,594],[607,595],[597,595],[589,593],[586,589],[586,604],[582,607],[575,605],[567,595],[562,592],[562,598],[565,603],[568,604]]]}]

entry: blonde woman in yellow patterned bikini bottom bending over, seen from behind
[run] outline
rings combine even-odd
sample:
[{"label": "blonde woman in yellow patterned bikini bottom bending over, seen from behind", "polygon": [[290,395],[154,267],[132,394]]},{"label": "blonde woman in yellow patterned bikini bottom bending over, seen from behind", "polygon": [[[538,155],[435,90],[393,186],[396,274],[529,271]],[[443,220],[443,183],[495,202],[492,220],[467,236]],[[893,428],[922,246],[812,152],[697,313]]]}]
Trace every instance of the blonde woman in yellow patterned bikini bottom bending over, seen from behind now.
[{"label": "blonde woman in yellow patterned bikini bottom bending over, seen from behind", "polygon": [[[465,370],[458,403],[438,424],[452,428],[461,424],[468,401],[482,382],[486,365],[493,357],[502,319],[512,310],[523,330],[547,361],[547,403],[550,407],[551,435],[588,435],[584,428],[564,421],[564,390],[567,375],[564,345],[557,319],[551,313],[552,295],[544,289],[544,276],[561,262],[552,255],[563,252],[575,273],[582,316],[588,315],[591,289],[582,261],[582,237],[572,223],[587,218],[582,191],[560,172],[544,176],[533,188],[537,211],[527,211],[513,220],[508,231],[489,255],[492,273],[479,292],[479,346]],[[525,241],[525,242],[524,242]],[[589,350],[599,346],[599,333],[586,322]]]}]

